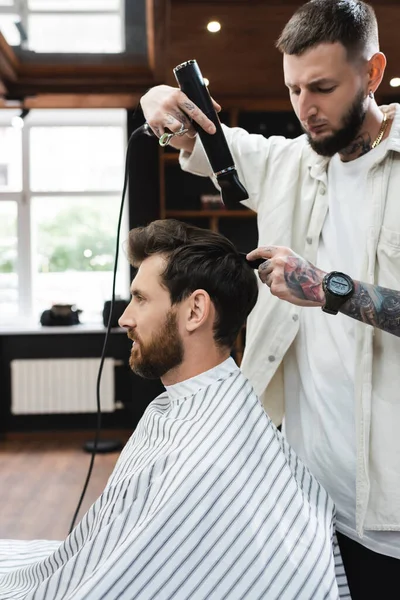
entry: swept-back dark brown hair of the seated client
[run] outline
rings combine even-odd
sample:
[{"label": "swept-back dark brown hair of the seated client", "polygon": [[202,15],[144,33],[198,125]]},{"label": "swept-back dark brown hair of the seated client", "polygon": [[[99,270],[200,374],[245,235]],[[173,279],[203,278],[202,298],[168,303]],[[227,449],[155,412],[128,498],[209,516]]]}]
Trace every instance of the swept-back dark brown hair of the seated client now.
[{"label": "swept-back dark brown hair of the seated client", "polygon": [[138,267],[149,256],[162,254],[166,268],[161,283],[178,304],[197,289],[214,304],[214,340],[232,348],[258,295],[257,277],[230,240],[220,233],[175,219],[153,221],[129,233],[129,260]]}]

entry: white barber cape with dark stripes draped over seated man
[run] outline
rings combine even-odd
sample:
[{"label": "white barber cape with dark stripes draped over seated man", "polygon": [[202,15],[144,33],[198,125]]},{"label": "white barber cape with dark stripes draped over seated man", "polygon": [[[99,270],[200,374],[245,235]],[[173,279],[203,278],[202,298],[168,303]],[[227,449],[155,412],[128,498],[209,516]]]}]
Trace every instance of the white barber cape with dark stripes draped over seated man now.
[{"label": "white barber cape with dark stripes draped over seated man", "polygon": [[64,542],[0,542],[0,598],[349,598],[333,515],[228,359],[151,403]]}]

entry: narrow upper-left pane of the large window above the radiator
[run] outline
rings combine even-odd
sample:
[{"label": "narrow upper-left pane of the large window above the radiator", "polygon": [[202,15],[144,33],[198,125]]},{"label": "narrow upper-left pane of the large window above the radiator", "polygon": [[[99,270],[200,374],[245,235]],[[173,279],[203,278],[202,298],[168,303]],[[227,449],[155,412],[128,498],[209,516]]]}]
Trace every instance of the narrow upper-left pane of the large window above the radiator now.
[{"label": "narrow upper-left pane of the large window above the radiator", "polygon": [[0,191],[18,192],[21,188],[21,130],[0,126]]}]

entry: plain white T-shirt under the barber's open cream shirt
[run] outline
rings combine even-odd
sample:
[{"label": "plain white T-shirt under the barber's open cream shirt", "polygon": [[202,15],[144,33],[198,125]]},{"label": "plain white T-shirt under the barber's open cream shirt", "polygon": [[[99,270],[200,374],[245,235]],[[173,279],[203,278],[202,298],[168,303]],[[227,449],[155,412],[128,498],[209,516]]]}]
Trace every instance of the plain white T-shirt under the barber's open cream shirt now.
[{"label": "plain white T-shirt under the barber's open cream shirt", "polygon": [[[316,261],[326,272],[342,271],[360,280],[370,210],[366,173],[383,158],[386,145],[347,163],[335,155],[329,163],[329,208]],[[284,359],[284,430],[333,498],[337,529],[357,541],[355,327],[354,319],[341,313],[302,311],[299,333]],[[299,421],[307,427],[299,428]],[[363,544],[400,558],[400,533],[366,532]]]}]

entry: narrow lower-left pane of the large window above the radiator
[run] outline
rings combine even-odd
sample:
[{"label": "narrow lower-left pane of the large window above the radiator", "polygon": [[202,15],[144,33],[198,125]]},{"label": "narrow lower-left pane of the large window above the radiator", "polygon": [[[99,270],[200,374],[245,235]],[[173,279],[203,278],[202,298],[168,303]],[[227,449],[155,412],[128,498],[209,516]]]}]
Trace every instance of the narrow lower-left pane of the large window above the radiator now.
[{"label": "narrow lower-left pane of the large window above the radiator", "polygon": [[0,321],[18,314],[16,202],[0,201]]}]

